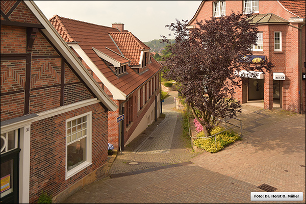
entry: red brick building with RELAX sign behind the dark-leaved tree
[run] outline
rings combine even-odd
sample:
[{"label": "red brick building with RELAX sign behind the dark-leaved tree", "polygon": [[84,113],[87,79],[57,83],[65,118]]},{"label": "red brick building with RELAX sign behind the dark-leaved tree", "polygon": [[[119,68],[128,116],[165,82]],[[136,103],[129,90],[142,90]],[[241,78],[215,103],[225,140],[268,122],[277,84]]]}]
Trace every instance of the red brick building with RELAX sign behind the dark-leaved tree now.
[{"label": "red brick building with RELAX sign behind the dark-leaved tree", "polygon": [[[249,85],[236,90],[241,103],[263,100],[265,109],[281,107],[305,113],[305,2],[304,1],[202,1],[193,18],[195,22],[253,11],[251,23],[258,23],[258,45],[255,58],[268,58],[275,67],[269,74],[249,78]],[[243,70],[239,74],[247,73]]]}]

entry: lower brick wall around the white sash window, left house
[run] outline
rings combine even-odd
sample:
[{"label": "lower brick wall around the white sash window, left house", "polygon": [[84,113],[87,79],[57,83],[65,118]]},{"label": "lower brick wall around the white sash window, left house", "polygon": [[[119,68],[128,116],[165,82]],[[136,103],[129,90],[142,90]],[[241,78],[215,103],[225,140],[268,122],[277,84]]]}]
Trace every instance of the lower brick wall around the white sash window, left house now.
[{"label": "lower brick wall around the white sash window, left house", "polygon": [[[65,180],[65,120],[89,111],[92,111],[92,165]],[[37,202],[42,189],[55,197],[106,164],[107,118],[104,109],[99,104],[94,104],[32,123],[30,203]]]}]

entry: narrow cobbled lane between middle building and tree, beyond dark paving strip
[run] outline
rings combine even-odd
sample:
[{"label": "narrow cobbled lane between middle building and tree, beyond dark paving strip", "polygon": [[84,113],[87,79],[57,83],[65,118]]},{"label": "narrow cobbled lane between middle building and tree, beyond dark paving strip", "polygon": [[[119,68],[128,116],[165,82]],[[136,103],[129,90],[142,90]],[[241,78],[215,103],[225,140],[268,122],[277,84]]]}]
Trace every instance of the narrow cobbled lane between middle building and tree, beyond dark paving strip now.
[{"label": "narrow cobbled lane between middle building and tree, beyond dark paving strip", "polygon": [[[194,152],[188,143],[190,140],[182,136],[182,112],[174,109],[174,97],[177,92],[169,92],[163,102],[162,112],[165,117],[152,123],[135,138],[124,151],[118,152],[109,174],[144,170],[174,163],[188,162],[200,154]],[[137,163],[137,164],[136,164]]]}]

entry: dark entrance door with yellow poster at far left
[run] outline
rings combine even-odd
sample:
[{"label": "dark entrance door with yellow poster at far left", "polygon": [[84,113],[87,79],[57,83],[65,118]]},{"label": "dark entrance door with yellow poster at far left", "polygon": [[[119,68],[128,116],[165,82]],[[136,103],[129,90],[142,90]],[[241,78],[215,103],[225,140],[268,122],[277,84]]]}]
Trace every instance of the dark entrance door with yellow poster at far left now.
[{"label": "dark entrance door with yellow poster at far left", "polygon": [[18,203],[20,129],[1,134],[1,203]]}]

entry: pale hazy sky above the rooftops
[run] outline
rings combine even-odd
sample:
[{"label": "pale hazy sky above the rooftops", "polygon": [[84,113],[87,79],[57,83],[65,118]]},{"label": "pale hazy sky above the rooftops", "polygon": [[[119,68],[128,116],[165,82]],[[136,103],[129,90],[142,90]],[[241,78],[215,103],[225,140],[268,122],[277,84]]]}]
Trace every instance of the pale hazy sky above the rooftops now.
[{"label": "pale hazy sky above the rooftops", "polygon": [[112,27],[123,23],[142,42],[174,39],[165,25],[191,20],[202,1],[34,1],[47,19],[55,14]]}]

